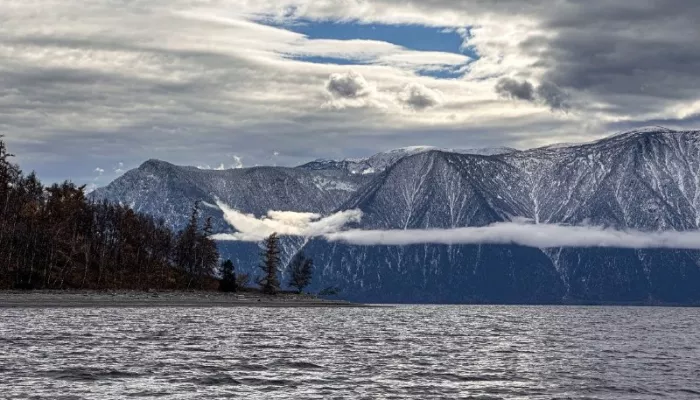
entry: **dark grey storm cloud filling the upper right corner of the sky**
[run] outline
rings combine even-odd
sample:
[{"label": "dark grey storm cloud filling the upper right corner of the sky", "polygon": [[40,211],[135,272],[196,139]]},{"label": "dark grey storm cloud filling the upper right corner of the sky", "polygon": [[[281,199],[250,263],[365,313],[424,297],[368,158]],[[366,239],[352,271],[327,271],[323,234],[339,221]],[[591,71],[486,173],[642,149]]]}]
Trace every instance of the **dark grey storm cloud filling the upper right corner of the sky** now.
[{"label": "dark grey storm cloud filling the upper right corner of the sky", "polygon": [[568,1],[542,17],[550,35],[522,46],[552,85],[620,105],[621,113],[637,101],[700,98],[699,2]]}]

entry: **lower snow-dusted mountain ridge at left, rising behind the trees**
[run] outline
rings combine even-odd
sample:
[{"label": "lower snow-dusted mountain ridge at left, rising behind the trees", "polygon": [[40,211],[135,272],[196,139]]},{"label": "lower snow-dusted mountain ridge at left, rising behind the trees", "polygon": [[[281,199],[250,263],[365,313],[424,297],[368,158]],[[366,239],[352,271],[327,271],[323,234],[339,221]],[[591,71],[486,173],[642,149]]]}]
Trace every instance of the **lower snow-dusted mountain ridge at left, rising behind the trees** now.
[{"label": "lower snow-dusted mountain ridge at left, rising behind the trees", "polygon": [[92,196],[126,204],[136,211],[162,217],[175,229],[182,228],[195,202],[215,217],[215,228],[228,231],[228,224],[213,205],[217,199],[231,207],[263,215],[268,210],[328,213],[336,209],[367,177],[338,170],[255,167],[204,170],[149,160],[128,171]]}]

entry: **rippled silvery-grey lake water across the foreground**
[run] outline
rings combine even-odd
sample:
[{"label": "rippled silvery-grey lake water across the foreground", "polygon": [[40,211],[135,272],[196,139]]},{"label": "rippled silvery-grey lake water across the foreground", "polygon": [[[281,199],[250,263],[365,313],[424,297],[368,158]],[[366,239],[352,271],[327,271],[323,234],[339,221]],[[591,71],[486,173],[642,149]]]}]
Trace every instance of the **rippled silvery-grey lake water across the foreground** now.
[{"label": "rippled silvery-grey lake water across the foreground", "polygon": [[0,398],[698,399],[700,309],[0,309]]}]

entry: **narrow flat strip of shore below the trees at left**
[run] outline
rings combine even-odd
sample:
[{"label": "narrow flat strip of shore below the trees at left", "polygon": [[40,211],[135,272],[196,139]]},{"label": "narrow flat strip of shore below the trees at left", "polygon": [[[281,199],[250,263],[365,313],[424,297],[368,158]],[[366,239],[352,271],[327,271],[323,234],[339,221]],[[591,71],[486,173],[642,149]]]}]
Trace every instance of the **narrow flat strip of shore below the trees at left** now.
[{"label": "narrow flat strip of shore below the trees at left", "polygon": [[0,291],[0,308],[53,307],[365,307],[305,295],[218,292]]}]

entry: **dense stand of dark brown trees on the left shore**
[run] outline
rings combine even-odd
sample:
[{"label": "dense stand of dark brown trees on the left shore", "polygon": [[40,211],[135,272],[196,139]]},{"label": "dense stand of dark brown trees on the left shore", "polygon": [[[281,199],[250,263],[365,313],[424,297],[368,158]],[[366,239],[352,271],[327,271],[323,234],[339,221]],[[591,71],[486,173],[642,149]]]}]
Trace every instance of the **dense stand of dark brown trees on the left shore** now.
[{"label": "dense stand of dark brown trees on the left shore", "polygon": [[211,222],[195,205],[188,226],[124,205],[95,203],[84,187],[44,187],[12,163],[0,138],[0,288],[215,289]]}]

